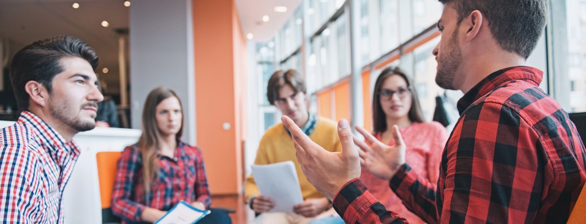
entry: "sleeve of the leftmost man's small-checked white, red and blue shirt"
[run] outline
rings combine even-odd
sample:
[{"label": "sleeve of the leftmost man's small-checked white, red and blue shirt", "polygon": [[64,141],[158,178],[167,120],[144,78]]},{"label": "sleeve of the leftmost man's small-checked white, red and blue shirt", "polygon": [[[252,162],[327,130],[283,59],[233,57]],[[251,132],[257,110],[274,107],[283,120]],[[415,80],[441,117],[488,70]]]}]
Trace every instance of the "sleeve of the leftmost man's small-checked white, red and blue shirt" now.
[{"label": "sleeve of the leftmost man's small-checked white, red and blue shirt", "polygon": [[0,145],[0,213],[2,220],[35,223],[40,213],[42,172],[35,155],[14,145]]}]

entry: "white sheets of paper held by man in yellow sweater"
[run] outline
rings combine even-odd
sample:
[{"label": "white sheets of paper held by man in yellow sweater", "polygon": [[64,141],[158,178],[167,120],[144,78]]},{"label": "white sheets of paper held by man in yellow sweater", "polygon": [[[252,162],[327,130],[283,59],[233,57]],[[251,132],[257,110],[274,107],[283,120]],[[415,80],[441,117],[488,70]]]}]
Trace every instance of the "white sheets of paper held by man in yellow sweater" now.
[{"label": "white sheets of paper held by man in yellow sweater", "polygon": [[275,202],[270,212],[293,212],[293,206],[303,202],[299,178],[292,161],[252,165],[254,182],[260,194]]}]

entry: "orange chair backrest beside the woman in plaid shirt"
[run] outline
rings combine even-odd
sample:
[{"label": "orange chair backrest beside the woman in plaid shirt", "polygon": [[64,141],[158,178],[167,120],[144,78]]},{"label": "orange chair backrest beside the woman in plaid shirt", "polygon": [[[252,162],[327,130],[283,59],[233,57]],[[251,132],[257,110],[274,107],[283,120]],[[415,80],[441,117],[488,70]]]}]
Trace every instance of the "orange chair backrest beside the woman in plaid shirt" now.
[{"label": "orange chair backrest beside the woman in plaid shirt", "polygon": [[116,162],[122,152],[98,152],[96,162],[98,164],[98,180],[100,181],[100,198],[102,202],[102,223],[120,222],[112,213],[111,200],[112,189],[116,174]]}]

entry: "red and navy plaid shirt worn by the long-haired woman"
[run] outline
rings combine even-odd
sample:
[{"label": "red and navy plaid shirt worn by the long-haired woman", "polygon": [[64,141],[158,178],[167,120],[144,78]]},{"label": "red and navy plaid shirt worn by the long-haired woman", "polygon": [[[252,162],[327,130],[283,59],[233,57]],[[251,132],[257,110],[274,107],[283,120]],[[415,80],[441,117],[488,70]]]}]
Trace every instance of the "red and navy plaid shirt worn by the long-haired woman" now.
[{"label": "red and navy plaid shirt worn by the long-haired woman", "polygon": [[138,145],[130,145],[122,151],[112,192],[112,212],[122,218],[122,223],[139,222],[146,207],[168,211],[181,200],[200,201],[207,208],[212,203],[199,148],[178,140],[173,158],[158,155],[157,159],[160,175],[151,181],[151,192],[147,194]]}]

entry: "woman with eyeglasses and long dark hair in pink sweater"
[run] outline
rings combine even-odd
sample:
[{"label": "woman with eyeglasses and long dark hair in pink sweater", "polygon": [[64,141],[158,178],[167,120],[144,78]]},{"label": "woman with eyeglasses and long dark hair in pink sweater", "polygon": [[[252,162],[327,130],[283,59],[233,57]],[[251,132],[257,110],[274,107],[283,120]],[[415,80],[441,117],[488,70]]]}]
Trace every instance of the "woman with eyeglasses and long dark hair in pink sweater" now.
[{"label": "woman with eyeglasses and long dark hair in pink sweater", "polygon": [[[398,125],[407,145],[406,162],[434,184],[437,183],[441,154],[448,134],[444,126],[424,121],[413,82],[398,67],[380,73],[374,84],[372,111],[373,135],[381,142],[393,145],[391,127]],[[404,216],[409,223],[425,223],[408,211],[401,199],[389,188],[389,182],[374,177],[362,169],[360,179],[387,210]]]}]

